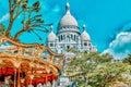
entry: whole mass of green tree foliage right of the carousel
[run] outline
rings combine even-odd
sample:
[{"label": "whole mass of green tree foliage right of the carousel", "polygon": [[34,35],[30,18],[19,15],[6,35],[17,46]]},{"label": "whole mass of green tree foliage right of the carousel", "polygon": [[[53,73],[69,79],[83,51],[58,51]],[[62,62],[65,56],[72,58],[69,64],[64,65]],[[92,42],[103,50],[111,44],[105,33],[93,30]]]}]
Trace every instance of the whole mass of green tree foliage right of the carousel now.
[{"label": "whole mass of green tree foliage right of the carousel", "polygon": [[[80,76],[87,80],[80,82],[78,87],[114,87],[116,82],[130,84],[131,79],[127,75],[131,75],[131,65],[120,61],[114,62],[112,55],[98,52],[80,53],[80,58],[75,58],[69,63],[69,66],[74,66],[74,71],[81,67]],[[129,62],[130,55],[126,59]],[[126,62],[124,61],[124,62]],[[76,75],[78,76],[78,75]]]}]

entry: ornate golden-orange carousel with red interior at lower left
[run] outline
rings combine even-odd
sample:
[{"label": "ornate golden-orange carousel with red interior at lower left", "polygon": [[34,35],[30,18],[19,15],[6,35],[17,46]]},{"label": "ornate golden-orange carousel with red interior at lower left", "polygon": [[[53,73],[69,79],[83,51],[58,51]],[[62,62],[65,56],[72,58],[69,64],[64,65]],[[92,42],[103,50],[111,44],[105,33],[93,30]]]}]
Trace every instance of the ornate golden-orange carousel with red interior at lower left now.
[{"label": "ornate golden-orange carousel with red interior at lower left", "polygon": [[[64,57],[39,44],[0,38],[0,87],[56,87]],[[7,45],[7,46],[2,46]]]}]

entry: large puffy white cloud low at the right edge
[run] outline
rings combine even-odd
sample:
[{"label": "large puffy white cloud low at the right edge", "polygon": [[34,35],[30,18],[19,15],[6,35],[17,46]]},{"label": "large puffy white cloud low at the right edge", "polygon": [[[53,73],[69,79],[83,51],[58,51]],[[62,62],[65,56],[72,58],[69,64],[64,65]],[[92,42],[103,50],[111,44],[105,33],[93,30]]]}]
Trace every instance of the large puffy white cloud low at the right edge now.
[{"label": "large puffy white cloud low at the right edge", "polygon": [[103,53],[110,53],[115,59],[123,59],[131,53],[131,32],[124,32],[117,35],[116,39],[110,42],[109,48]]}]

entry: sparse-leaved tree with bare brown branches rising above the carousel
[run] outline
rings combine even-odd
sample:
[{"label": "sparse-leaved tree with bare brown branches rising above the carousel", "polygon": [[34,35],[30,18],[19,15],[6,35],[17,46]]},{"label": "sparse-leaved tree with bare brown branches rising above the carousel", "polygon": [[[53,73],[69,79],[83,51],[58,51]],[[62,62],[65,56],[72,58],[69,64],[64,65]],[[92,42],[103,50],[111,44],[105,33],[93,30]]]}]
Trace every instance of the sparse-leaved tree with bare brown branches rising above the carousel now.
[{"label": "sparse-leaved tree with bare brown branches rising above the carousel", "polygon": [[[37,37],[39,37],[39,40],[41,40],[36,30],[47,33],[48,29],[46,26],[50,26],[51,24],[45,24],[43,15],[39,13],[39,5],[40,2],[38,0],[36,0],[33,4],[29,4],[28,0],[9,0],[10,22],[5,36],[11,37],[14,40],[19,40],[19,36],[27,32],[34,33]],[[19,16],[23,16],[21,22],[23,26],[20,27],[19,32],[14,36],[11,36],[12,26]]]}]

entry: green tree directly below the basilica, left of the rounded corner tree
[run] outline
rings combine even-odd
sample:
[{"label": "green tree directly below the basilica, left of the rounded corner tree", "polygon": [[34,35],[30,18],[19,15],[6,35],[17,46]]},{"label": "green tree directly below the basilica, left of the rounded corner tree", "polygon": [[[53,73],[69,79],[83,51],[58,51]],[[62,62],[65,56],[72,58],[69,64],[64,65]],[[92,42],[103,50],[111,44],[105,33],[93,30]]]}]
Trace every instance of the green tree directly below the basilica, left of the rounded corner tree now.
[{"label": "green tree directly below the basilica, left of the rounded corner tree", "polygon": [[[99,53],[97,52],[91,52],[91,53],[76,52],[75,59],[69,63],[69,66],[74,66],[73,67],[74,72],[79,67],[80,73],[79,75],[76,74],[75,80],[78,80],[79,84],[81,83],[82,86],[83,84],[86,84],[87,80],[86,74],[92,72],[97,66],[95,61],[98,58],[99,58]],[[79,76],[82,77],[82,79],[80,79]]]}]

